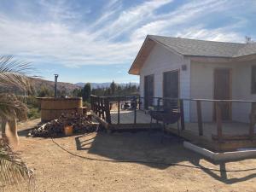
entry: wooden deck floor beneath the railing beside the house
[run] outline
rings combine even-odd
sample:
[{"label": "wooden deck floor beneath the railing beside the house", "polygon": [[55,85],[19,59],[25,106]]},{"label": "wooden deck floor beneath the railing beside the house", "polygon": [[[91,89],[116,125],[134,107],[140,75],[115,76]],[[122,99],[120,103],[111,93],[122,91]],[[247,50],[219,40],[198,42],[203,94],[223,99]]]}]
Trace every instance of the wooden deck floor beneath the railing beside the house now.
[{"label": "wooden deck floor beneath the railing beside the house", "polygon": [[[119,124],[117,118],[117,111],[111,111],[112,129],[113,130],[136,130],[143,128],[143,130],[150,129],[150,115],[142,110],[137,110],[137,124],[134,124],[134,111],[120,110]],[[152,129],[160,129],[161,123],[156,124],[153,120]],[[254,140],[248,138],[249,124],[240,122],[223,122],[222,131],[224,141],[218,143],[218,130],[216,122],[202,123],[202,136],[199,135],[199,128],[197,122],[185,123],[185,130],[177,131],[177,124],[167,125],[166,130],[173,134],[179,135],[192,143],[197,143],[215,151],[227,151],[234,148],[255,148],[256,135]],[[181,129],[181,127],[180,127]],[[254,127],[254,132],[256,128]]]}]

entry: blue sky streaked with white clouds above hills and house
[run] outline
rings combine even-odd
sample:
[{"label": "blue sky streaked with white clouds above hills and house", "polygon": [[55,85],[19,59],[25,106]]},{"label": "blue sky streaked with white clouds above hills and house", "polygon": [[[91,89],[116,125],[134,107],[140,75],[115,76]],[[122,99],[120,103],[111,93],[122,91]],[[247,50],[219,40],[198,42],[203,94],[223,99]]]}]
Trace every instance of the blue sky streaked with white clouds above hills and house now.
[{"label": "blue sky streaked with white clouds above hills and house", "polygon": [[256,0],[1,0],[0,55],[64,82],[137,82],[128,69],[147,34],[256,40]]}]

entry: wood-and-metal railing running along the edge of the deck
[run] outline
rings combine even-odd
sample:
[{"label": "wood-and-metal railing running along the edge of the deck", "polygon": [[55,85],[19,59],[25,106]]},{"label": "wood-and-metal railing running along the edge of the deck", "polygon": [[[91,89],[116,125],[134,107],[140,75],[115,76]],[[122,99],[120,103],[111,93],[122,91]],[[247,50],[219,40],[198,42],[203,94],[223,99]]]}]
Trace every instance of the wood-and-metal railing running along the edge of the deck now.
[{"label": "wood-and-metal railing running along the edge of the deck", "polygon": [[[212,122],[215,125],[216,136],[212,136],[213,140],[223,142],[224,135],[224,119],[223,108],[224,106],[236,107],[237,115],[234,117],[231,114],[231,120],[236,121],[236,117],[245,116],[248,119],[249,129],[243,136],[236,136],[236,133],[232,133],[232,137],[245,138],[254,140],[254,126],[256,125],[256,101],[244,101],[244,100],[211,100],[211,99],[177,99],[177,98],[165,98],[165,97],[151,97],[144,98],[141,96],[90,96],[91,109],[100,118],[105,119],[108,124],[140,124],[142,117],[140,114],[148,113],[150,110],[177,110],[180,113],[181,131],[186,130],[187,124],[185,124],[184,113],[194,115],[189,117],[197,124],[197,134],[204,136],[204,131],[207,131],[204,126],[207,122],[207,113],[212,115]],[[149,102],[148,102],[149,101]],[[186,108],[184,108],[184,103]],[[188,109],[189,108],[189,109]],[[240,108],[247,108],[247,114],[240,112]],[[186,112],[184,112],[184,109]],[[236,112],[235,111],[235,112]],[[126,115],[124,115],[126,114]],[[210,115],[211,114],[211,115]],[[192,115],[192,116],[193,116]],[[148,115],[149,116],[149,115]],[[150,117],[150,116],[149,116]],[[130,121],[127,121],[127,119]],[[147,119],[146,119],[147,121]],[[148,119],[148,123],[150,119]],[[194,130],[195,131],[195,130]]]}]

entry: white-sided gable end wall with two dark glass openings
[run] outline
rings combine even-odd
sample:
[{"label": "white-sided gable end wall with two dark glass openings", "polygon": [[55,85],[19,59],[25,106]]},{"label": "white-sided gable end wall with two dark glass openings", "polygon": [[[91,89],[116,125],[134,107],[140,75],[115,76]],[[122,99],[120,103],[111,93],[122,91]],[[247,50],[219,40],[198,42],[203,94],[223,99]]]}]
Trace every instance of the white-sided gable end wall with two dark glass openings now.
[{"label": "white-sided gable end wall with two dark glass openings", "polygon": [[[181,66],[186,65],[186,71]],[[154,74],[154,96],[163,96],[163,73],[179,70],[179,96],[190,97],[190,61],[156,44],[140,71],[140,95],[144,96],[144,77]],[[185,120],[189,121],[189,102],[184,102]]]}]

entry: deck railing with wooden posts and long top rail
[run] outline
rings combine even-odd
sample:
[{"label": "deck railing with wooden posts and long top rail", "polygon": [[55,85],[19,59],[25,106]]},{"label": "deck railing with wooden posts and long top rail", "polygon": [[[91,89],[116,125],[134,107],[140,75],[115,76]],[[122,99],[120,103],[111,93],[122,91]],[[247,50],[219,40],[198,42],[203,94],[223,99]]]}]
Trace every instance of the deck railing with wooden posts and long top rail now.
[{"label": "deck railing with wooden posts and long top rail", "polygon": [[[149,102],[148,102],[149,101]],[[248,113],[249,119],[249,131],[247,134],[239,137],[246,139],[255,139],[254,125],[256,123],[256,101],[243,101],[243,100],[210,100],[210,99],[177,99],[177,98],[165,98],[165,97],[151,97],[146,100],[141,96],[90,96],[91,110],[96,113],[97,116],[106,120],[108,124],[124,124],[120,113],[126,108],[131,111],[133,115],[133,124],[138,124],[137,113],[138,110],[143,110],[147,113],[149,110],[161,110],[162,108],[176,108],[181,114],[180,124],[181,131],[186,130],[185,117],[184,117],[184,103],[186,106],[191,107],[194,105],[195,121],[197,122],[198,135],[204,135],[204,111],[206,103],[210,102],[212,113],[214,115],[213,121],[216,123],[216,136],[212,136],[213,140],[217,140],[222,143],[227,137],[223,133],[223,115],[222,108],[224,105],[235,105],[235,103],[247,103],[251,108]],[[188,104],[189,103],[189,104]],[[126,106],[126,107],[125,107]],[[128,107],[129,106],[129,107]],[[239,108],[239,107],[238,107]],[[111,115],[111,111],[115,110],[115,116]],[[188,108],[186,108],[188,110]],[[191,113],[189,108],[189,113]],[[148,122],[149,123],[149,122]],[[238,138],[238,136],[237,136]]]}]

